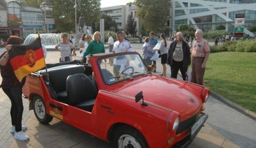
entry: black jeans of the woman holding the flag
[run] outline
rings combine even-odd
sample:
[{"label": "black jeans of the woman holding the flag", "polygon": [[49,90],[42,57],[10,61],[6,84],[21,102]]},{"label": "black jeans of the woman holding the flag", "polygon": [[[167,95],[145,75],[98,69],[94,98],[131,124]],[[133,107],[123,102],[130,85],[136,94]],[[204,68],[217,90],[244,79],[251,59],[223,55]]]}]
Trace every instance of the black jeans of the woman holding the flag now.
[{"label": "black jeans of the woman holding the flag", "polygon": [[15,131],[21,131],[21,120],[23,114],[23,102],[22,102],[22,88],[2,88],[4,93],[11,100],[11,119],[12,125],[15,125]]}]

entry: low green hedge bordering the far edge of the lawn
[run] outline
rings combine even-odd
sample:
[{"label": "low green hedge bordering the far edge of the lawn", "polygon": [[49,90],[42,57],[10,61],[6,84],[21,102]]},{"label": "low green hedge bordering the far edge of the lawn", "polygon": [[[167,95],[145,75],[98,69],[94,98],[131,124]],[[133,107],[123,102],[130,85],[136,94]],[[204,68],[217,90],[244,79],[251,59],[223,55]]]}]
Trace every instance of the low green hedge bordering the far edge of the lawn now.
[{"label": "low green hedge bordering the far edge of the lawn", "polygon": [[220,46],[210,46],[211,53],[221,51],[239,51],[239,52],[256,52],[256,41],[254,40],[237,40],[226,41]]}]

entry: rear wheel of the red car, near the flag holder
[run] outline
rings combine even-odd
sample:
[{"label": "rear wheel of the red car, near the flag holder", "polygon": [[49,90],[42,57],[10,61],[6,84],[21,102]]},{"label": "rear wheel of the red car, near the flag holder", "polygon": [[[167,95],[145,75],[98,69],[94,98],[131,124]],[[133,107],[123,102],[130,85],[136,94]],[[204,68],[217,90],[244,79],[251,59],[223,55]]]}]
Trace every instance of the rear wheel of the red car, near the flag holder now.
[{"label": "rear wheel of the red car, near the flag holder", "polygon": [[37,120],[42,124],[48,124],[53,117],[46,113],[46,106],[44,100],[40,96],[35,96],[33,99],[34,113]]}]

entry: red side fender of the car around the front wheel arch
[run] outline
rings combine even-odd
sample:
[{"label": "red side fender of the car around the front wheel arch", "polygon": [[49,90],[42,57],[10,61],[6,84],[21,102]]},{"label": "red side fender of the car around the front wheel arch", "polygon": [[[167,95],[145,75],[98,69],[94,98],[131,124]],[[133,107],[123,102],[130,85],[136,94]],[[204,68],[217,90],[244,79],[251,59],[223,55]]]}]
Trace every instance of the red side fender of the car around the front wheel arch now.
[{"label": "red side fender of the car around the front wheel arch", "polygon": [[[121,100],[121,101],[119,101]],[[108,139],[111,126],[126,124],[142,133],[150,147],[164,147],[172,133],[166,125],[170,110],[151,105],[142,106],[135,103],[134,98],[120,96],[100,90],[97,96],[96,115],[94,117],[96,135],[103,140]],[[164,144],[164,145],[163,145]]]}]

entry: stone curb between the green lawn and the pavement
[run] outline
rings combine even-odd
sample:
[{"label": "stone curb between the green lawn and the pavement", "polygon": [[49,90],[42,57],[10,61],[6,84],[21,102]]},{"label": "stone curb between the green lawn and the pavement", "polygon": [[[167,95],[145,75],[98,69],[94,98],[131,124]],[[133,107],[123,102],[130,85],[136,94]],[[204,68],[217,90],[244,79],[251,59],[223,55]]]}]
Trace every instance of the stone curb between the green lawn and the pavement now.
[{"label": "stone curb between the green lawn and the pavement", "polygon": [[221,96],[221,95],[219,95],[219,94],[217,94],[213,91],[211,91],[210,95],[213,96],[214,98],[216,98],[217,100],[220,100],[220,101],[228,104],[229,106],[236,108],[238,111],[241,111],[245,114],[248,114],[248,115],[252,116],[253,118],[256,118],[256,113],[254,113],[254,112],[252,112],[252,111],[250,111],[250,110],[248,110],[248,109],[246,109],[246,108],[244,108],[244,107],[242,107],[242,106],[224,98],[223,96]]}]

